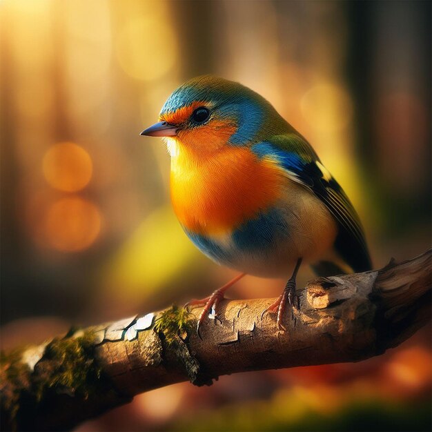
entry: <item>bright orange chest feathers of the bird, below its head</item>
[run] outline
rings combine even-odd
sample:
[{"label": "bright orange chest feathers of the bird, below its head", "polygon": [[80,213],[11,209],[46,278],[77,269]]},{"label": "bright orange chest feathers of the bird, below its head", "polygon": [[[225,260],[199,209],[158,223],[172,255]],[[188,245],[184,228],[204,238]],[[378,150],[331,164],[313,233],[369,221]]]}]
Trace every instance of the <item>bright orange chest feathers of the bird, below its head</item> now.
[{"label": "bright orange chest feathers of the bird, below its head", "polygon": [[272,206],[283,176],[248,148],[198,158],[180,150],[171,158],[171,200],[180,223],[197,234],[224,235]]}]

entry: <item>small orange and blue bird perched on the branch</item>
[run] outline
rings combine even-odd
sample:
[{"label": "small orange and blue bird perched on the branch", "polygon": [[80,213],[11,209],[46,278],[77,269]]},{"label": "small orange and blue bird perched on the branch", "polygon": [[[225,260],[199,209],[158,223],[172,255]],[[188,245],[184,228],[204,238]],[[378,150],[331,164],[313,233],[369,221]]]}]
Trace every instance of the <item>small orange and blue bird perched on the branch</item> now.
[{"label": "small orange and blue bird perched on the branch", "polygon": [[[175,90],[159,122],[141,135],[164,137],[170,188],[186,235],[208,257],[242,272],[210,297],[198,322],[245,274],[288,277],[277,312],[295,306],[303,261],[321,275],[367,271],[371,259],[359,217],[344,191],[297,130],[262,96],[202,76]],[[265,312],[265,311],[264,311]]]}]

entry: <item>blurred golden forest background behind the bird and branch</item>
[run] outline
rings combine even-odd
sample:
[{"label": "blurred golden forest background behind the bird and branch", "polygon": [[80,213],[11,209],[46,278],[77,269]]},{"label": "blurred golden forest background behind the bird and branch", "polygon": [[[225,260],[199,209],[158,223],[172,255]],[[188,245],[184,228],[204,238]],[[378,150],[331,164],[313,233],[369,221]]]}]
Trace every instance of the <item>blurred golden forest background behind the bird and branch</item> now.
[{"label": "blurred golden forest background behind the bird and branch", "polygon": [[[2,348],[182,304],[235,275],[188,241],[166,148],[139,137],[203,73],[253,88],[311,141],[375,268],[429,248],[430,2],[0,0],[0,26]],[[283,284],[246,277],[230,295]],[[423,328],[357,364],[177,384],[78,430],[430,430],[430,341]]]}]

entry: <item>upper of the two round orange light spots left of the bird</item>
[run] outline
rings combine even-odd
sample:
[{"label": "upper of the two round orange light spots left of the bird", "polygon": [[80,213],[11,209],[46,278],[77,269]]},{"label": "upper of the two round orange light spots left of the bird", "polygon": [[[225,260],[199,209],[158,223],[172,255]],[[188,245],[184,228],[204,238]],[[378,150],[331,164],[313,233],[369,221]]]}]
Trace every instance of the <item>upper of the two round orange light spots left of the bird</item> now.
[{"label": "upper of the two round orange light spots left of the bird", "polygon": [[77,144],[56,144],[43,157],[43,175],[53,188],[77,192],[85,188],[92,177],[92,159]]}]

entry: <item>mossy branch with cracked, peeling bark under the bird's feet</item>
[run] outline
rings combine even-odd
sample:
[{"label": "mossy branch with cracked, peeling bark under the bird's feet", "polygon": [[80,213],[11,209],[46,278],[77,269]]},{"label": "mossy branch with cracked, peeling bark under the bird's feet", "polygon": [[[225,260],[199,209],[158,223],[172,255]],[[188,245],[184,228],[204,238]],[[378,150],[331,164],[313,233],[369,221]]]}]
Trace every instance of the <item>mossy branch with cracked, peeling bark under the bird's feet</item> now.
[{"label": "mossy branch with cracked, peeling bark under the bird's feet", "polygon": [[203,340],[195,333],[201,308],[190,315],[171,308],[71,331],[6,356],[2,429],[71,429],[138,393],[176,382],[211,384],[235,372],[380,355],[430,320],[431,250],[380,271],[314,279],[297,295],[300,311],[287,314],[286,331],[277,329],[274,314],[261,317],[274,299],[224,300],[220,320],[204,322]]}]

